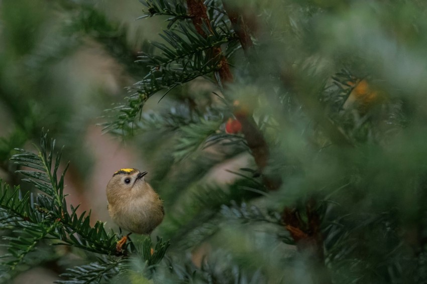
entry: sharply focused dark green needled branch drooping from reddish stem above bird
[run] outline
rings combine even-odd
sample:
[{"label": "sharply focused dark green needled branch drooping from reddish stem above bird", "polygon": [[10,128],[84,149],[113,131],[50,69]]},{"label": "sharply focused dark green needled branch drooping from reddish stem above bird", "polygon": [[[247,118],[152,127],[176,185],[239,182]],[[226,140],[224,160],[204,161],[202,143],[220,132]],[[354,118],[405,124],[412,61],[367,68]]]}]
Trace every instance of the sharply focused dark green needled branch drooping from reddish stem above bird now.
[{"label": "sharply focused dark green needled branch drooping from reddish stem above bird", "polygon": [[[150,2],[148,5],[152,4]],[[163,10],[171,7],[167,1],[160,1],[156,5],[161,5],[160,8]],[[203,19],[207,17],[206,14],[204,15]],[[145,102],[158,91],[166,90],[164,97],[175,87],[197,77],[216,71],[220,76],[230,73],[220,46],[224,43],[233,45],[237,39],[236,34],[231,32],[224,23],[216,25],[203,21],[197,23],[197,26],[179,23],[173,31],[165,30],[161,37],[168,45],[152,43],[161,51],[161,55],[146,54],[141,57],[139,61],[146,63],[151,70],[143,80],[135,84],[134,88],[129,88],[129,91],[137,92],[127,97],[127,105],[107,110],[118,115],[114,121],[103,124],[104,130],[132,132],[133,123],[142,112]],[[229,75],[231,76],[231,73]]]}]

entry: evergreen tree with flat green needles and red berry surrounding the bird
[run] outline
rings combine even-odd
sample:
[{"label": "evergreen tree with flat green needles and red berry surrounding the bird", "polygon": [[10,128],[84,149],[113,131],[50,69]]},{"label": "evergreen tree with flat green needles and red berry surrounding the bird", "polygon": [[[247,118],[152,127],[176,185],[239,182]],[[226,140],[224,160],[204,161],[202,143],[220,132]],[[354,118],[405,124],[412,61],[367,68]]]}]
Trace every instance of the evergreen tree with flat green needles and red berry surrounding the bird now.
[{"label": "evergreen tree with flat green needles and red berry surrounding the bird", "polygon": [[119,250],[122,232],[67,203],[54,139],[12,157],[27,137],[8,140],[37,192],[2,183],[4,281],[67,246],[85,263],[59,283],[427,282],[427,4],[140,2],[166,25],[137,63],[91,5],[68,4],[68,32],[139,77],[102,126],[143,149],[165,220]]}]

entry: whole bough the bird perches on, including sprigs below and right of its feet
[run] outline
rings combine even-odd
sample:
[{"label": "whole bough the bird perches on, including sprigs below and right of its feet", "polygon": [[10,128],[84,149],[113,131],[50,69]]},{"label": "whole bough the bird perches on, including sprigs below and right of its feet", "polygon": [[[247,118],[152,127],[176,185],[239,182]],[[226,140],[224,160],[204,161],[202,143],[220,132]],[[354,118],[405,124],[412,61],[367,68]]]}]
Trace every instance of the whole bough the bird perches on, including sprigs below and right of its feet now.
[{"label": "whole bough the bird perches on, including sprigs below and right of its feet", "polygon": [[[11,158],[17,165],[25,166],[31,170],[19,171],[29,177],[24,181],[34,185],[43,194],[22,194],[19,187],[11,190],[8,185],[1,184],[0,187],[0,228],[12,228],[16,236],[4,237],[8,240],[7,245],[10,254],[6,255],[3,265],[15,269],[22,263],[28,253],[35,250],[38,243],[43,239],[49,239],[54,245],[70,245],[97,254],[104,254],[99,261],[68,269],[62,276],[71,278],[69,281],[58,281],[59,283],[88,283],[99,282],[112,278],[117,274],[117,265],[123,258],[113,258],[118,254],[116,234],[106,232],[103,223],[97,221],[90,226],[90,212],[77,215],[77,207],[70,205],[71,212],[67,210],[64,189],[64,172],[60,179],[58,169],[60,166],[62,151],[54,153],[55,140],[51,140],[50,147],[47,144],[47,134],[41,138],[41,149],[38,155],[19,150]],[[146,240],[139,246],[141,257],[148,263],[150,271],[159,263],[169,246],[169,241],[161,239],[155,245],[154,253],[151,252],[151,240]],[[121,252],[127,254],[128,250]],[[147,274],[150,276],[151,274]],[[147,277],[148,277],[147,276]]]}]

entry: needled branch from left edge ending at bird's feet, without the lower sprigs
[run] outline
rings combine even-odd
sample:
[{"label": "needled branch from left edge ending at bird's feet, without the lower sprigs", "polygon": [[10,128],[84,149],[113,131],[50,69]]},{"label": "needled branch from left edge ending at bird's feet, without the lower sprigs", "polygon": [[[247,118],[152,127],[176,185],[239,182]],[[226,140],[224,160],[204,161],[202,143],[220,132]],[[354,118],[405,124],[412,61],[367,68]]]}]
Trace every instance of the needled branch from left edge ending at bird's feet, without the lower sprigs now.
[{"label": "needled branch from left edge ending at bird's feet, without the lower sprigs", "polygon": [[42,133],[41,149],[38,155],[17,149],[21,154],[11,158],[17,165],[31,170],[19,173],[29,177],[23,181],[34,185],[44,194],[21,194],[19,187],[14,191],[6,185],[0,190],[0,208],[6,213],[2,224],[12,224],[18,237],[9,237],[8,249],[13,260],[7,262],[15,268],[25,255],[32,251],[38,241],[45,238],[60,240],[62,244],[72,245],[96,253],[115,253],[117,236],[114,232],[107,233],[103,223],[97,222],[94,227],[89,225],[90,213],[76,214],[71,206],[67,211],[64,189],[64,175],[67,167],[58,179],[58,169],[62,151],[53,156],[55,140],[51,140],[50,151],[47,147],[47,134]]}]

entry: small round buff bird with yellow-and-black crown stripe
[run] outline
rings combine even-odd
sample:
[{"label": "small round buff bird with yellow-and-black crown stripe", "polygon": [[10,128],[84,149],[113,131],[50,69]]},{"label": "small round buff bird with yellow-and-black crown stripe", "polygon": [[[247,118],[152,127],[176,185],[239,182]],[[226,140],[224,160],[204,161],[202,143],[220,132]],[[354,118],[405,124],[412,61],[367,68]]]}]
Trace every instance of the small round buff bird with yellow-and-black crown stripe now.
[{"label": "small round buff bird with yellow-and-black crown stripe", "polygon": [[163,201],[145,181],[148,172],[120,169],[106,186],[108,211],[112,220],[130,233],[117,244],[121,251],[131,233],[150,235],[165,215]]}]

